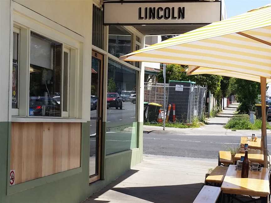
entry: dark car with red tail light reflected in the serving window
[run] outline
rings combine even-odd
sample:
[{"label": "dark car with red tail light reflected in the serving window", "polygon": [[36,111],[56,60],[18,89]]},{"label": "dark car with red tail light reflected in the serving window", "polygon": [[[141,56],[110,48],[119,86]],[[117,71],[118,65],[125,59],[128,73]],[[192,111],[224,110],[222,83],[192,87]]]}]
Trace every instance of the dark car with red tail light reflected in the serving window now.
[{"label": "dark car with red tail light reflected in the serving window", "polygon": [[29,98],[29,115],[60,117],[60,104],[51,97],[31,96]]}]

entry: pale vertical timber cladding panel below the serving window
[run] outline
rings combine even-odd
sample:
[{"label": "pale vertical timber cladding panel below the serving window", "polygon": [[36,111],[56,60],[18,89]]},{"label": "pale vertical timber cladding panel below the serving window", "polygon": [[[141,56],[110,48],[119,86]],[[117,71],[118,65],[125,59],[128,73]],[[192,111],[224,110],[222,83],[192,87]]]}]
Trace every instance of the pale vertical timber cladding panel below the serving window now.
[{"label": "pale vertical timber cladding panel below the serving window", "polygon": [[81,123],[12,122],[15,184],[80,167]]}]

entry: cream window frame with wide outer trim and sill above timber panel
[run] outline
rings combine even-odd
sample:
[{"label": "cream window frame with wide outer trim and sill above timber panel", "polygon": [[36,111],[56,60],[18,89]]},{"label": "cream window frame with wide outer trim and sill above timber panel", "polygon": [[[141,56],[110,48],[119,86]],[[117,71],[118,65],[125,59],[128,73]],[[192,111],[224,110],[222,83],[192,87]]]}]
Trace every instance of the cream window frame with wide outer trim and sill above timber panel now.
[{"label": "cream window frame with wide outer trim and sill above timber panel", "polygon": [[[9,107],[9,117],[12,122],[86,122],[82,119],[82,86],[83,86],[83,44],[84,37],[74,33],[63,26],[50,21],[48,18],[35,13],[16,2],[11,2],[11,20],[16,28],[20,28],[20,54],[19,54],[19,113],[13,112]],[[29,116],[29,66],[30,66],[30,32],[52,39],[62,44],[62,77],[61,77],[61,117]],[[13,29],[11,30],[11,34]],[[62,112],[63,102],[63,58],[64,49],[70,50],[69,77],[69,112]],[[13,53],[13,44],[10,45]],[[11,59],[12,60],[12,59]],[[12,63],[10,65],[12,70]],[[11,83],[10,83],[11,85]],[[10,86],[10,94],[12,88]],[[10,97],[11,104],[11,97]]]}]

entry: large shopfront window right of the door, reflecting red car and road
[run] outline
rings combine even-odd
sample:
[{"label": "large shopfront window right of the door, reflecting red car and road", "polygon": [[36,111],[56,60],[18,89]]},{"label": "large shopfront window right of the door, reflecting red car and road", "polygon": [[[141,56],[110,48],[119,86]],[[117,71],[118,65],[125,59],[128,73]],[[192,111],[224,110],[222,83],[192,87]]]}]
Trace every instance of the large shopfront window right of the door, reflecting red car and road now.
[{"label": "large shopfront window right of the door, reflecting red car and road", "polygon": [[108,60],[106,154],[136,148],[137,71]]}]

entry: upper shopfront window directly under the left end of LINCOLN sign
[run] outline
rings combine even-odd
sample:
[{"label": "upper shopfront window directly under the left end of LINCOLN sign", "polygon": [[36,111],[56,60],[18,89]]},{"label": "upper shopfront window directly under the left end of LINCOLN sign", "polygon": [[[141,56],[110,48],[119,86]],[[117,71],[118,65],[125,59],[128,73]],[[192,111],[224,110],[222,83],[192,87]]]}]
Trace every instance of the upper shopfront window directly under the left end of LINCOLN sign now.
[{"label": "upper shopfront window directly under the left end of LINCOLN sign", "polygon": [[108,52],[116,57],[131,52],[132,34],[121,26],[110,25],[108,36]]}]

